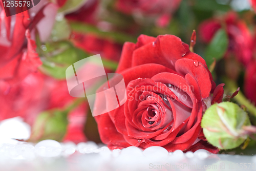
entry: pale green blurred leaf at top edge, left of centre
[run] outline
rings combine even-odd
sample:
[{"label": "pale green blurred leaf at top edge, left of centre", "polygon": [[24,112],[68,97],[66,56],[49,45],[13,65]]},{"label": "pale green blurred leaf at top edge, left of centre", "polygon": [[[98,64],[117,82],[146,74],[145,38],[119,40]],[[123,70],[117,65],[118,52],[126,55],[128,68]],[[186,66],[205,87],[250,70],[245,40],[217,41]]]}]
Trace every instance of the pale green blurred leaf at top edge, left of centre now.
[{"label": "pale green blurred leaf at top edge, left of centre", "polygon": [[76,11],[79,7],[85,4],[87,0],[68,0],[63,7],[61,7],[58,12],[71,13]]}]

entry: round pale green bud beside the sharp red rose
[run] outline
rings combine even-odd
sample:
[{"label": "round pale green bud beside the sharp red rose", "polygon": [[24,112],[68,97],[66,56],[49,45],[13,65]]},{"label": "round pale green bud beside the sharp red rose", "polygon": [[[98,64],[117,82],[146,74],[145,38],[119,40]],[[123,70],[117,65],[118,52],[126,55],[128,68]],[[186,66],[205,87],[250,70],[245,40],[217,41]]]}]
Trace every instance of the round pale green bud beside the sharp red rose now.
[{"label": "round pale green bud beside the sharp red rose", "polygon": [[241,145],[248,137],[244,127],[250,126],[247,113],[232,102],[216,103],[205,111],[201,126],[208,142],[220,149]]}]

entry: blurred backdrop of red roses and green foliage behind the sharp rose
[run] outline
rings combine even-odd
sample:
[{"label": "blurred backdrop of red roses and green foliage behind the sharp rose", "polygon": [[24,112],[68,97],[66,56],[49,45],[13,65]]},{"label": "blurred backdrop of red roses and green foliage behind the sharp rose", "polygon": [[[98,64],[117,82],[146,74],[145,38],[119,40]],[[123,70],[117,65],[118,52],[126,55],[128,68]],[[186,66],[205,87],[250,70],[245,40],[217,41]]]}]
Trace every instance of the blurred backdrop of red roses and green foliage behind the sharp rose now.
[{"label": "blurred backdrop of red roses and green foliage behind the sharp rose", "polygon": [[[0,137],[101,142],[86,99],[69,95],[66,69],[100,54],[113,73],[124,42],[173,34],[190,44],[193,30],[195,53],[226,84],[225,97],[240,87],[232,100],[256,124],[254,0],[41,0],[10,17],[0,10]],[[27,131],[13,131],[17,121]]]}]

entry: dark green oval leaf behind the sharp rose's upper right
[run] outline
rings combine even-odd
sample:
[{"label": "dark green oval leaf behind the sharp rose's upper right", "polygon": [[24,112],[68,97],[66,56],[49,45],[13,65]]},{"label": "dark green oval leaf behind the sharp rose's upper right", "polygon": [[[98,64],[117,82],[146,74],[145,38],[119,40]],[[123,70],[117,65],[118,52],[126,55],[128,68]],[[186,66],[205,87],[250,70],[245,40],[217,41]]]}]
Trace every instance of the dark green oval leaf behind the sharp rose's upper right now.
[{"label": "dark green oval leaf behind the sharp rose's upper right", "polygon": [[210,66],[214,58],[220,60],[228,48],[228,36],[224,29],[220,29],[212,38],[210,44],[206,48],[205,61]]}]

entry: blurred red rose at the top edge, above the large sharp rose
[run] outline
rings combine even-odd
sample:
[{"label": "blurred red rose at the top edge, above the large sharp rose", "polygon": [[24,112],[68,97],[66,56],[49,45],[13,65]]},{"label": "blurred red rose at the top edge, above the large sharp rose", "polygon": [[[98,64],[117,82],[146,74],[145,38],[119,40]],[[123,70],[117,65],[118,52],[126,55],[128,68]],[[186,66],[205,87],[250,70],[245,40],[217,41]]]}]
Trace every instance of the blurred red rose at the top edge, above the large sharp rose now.
[{"label": "blurred red rose at the top edge, above the large sharp rose", "polygon": [[172,14],[178,9],[181,0],[118,0],[116,9],[125,14],[140,14],[145,17],[157,17],[156,25],[165,27]]}]

